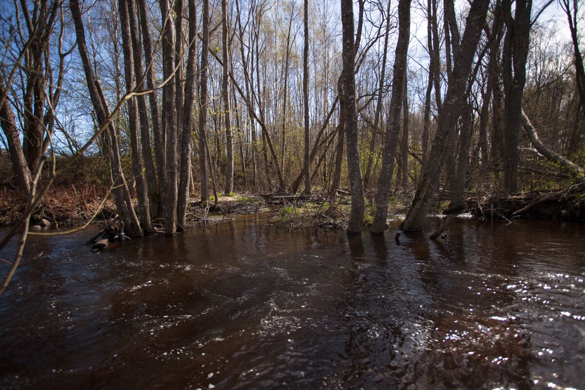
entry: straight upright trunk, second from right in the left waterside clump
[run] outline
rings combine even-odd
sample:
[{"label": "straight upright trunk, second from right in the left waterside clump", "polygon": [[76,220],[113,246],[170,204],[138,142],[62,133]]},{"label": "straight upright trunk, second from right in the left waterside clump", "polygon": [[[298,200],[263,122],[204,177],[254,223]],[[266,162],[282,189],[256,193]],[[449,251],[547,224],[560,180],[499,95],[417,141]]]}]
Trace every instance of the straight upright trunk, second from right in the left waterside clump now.
[{"label": "straight upright trunk, second from right in the left waterside clump", "polygon": [[163,112],[165,130],[167,135],[167,164],[166,164],[166,204],[164,218],[164,233],[167,236],[177,234],[177,110],[175,100],[176,75],[173,75],[174,61],[173,51],[175,33],[172,18],[170,17],[168,0],[160,0],[160,12],[163,18],[163,76],[165,80],[173,76],[170,82],[163,87]]}]

